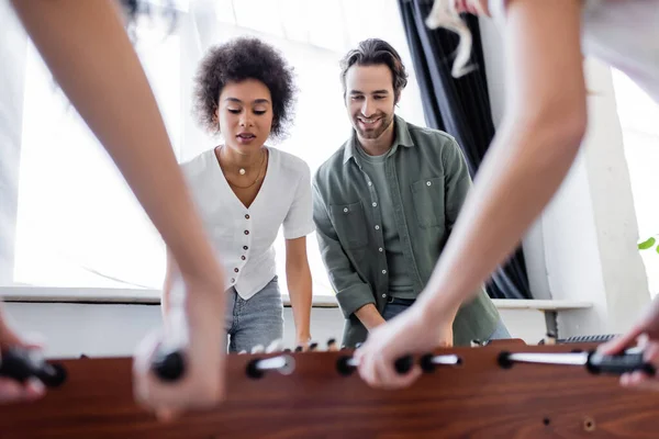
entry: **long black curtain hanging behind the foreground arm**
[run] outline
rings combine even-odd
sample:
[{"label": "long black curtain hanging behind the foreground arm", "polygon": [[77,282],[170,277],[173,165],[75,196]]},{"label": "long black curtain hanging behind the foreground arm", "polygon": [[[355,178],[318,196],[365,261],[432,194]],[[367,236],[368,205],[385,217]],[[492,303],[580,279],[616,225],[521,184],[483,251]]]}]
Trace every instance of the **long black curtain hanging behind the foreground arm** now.
[{"label": "long black curtain hanging behind the foreground arm", "polygon": [[[494,136],[478,19],[466,14],[473,35],[470,74],[450,75],[459,37],[454,32],[425,25],[433,0],[398,0],[426,124],[455,136],[473,177]],[[514,213],[513,213],[514,214]],[[522,248],[488,282],[493,299],[532,299]]]}]

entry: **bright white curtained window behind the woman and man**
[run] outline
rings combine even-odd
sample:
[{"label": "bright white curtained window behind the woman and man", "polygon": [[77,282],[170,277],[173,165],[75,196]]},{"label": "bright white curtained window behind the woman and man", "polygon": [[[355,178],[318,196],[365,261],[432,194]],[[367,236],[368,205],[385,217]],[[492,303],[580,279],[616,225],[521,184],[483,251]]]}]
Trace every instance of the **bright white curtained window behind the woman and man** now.
[{"label": "bright white curtained window behind the woman and man", "polygon": [[[338,60],[364,38],[381,37],[401,53],[410,82],[396,112],[424,125],[395,0],[179,0],[176,5],[176,30],[164,36],[158,23],[145,21],[136,47],[179,161],[222,142],[192,119],[192,79],[209,47],[239,35],[261,37],[294,66],[295,120],[290,136],[273,146],[306,160],[312,172],[350,133]],[[13,20],[3,29],[21,36],[15,19],[2,12],[4,22]],[[34,47],[23,47],[18,54],[1,52],[18,63],[9,63],[13,80],[4,82],[14,90],[0,95],[0,134],[13,133],[14,145],[0,149],[0,288],[64,288],[91,295],[98,289],[158,290],[165,272],[159,236]],[[5,209],[14,199],[15,209]],[[283,278],[281,237],[277,254]],[[309,257],[314,292],[331,294],[313,235]],[[281,286],[286,292],[284,282]]]}]

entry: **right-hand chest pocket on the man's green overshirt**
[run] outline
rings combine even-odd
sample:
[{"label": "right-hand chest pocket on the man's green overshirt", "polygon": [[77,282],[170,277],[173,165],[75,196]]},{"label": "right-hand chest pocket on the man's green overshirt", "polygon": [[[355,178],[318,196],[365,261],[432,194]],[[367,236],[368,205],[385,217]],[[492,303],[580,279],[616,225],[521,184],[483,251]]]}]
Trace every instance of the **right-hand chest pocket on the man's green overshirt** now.
[{"label": "right-hand chest pocket on the man's green overshirt", "polygon": [[445,227],[443,178],[427,178],[413,182],[412,202],[421,227]]}]

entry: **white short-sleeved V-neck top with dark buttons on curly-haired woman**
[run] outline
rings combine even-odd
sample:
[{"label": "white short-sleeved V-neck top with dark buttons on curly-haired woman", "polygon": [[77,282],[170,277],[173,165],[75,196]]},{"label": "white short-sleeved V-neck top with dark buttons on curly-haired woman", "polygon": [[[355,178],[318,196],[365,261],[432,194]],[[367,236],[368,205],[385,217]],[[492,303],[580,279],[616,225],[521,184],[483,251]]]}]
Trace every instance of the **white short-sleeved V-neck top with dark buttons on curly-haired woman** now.
[{"label": "white short-sleeved V-neck top with dark buttons on curly-haired woman", "polygon": [[268,147],[268,170],[256,199],[245,207],[220,168],[215,150],[200,154],[181,169],[204,229],[225,269],[228,288],[247,300],[277,273],[272,244],[314,230],[309,166],[291,154]]}]

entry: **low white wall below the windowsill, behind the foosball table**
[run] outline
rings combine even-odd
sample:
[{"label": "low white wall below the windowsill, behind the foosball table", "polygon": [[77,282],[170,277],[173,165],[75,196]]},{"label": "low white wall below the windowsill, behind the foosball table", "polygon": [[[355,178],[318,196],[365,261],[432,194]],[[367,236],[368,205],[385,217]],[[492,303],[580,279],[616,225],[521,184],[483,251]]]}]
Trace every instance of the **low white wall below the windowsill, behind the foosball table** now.
[{"label": "low white wall below the windowsill, behind the foosball table", "polygon": [[[130,356],[136,344],[160,327],[159,305],[83,303],[5,304],[13,326],[21,334],[44,338],[51,358]],[[514,337],[537,344],[545,335],[545,320],[538,311],[502,311]],[[311,315],[311,334],[319,349],[330,338],[340,342],[344,318],[337,307],[316,307]],[[293,348],[294,331],[290,307],[284,308],[284,346]]]}]

